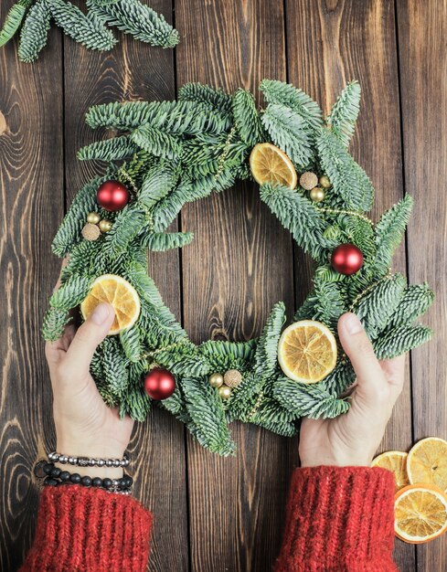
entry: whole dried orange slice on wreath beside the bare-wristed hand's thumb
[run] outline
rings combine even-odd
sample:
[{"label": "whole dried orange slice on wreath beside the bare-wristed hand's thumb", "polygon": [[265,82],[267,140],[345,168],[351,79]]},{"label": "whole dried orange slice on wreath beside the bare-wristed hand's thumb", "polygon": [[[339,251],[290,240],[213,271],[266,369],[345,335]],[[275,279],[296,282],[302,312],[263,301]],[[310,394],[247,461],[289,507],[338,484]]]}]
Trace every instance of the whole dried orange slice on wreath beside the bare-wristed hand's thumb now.
[{"label": "whole dried orange slice on wreath beside the bare-wristed hand's thumb", "polygon": [[278,361],[284,374],[294,381],[308,384],[321,381],[335,367],[334,334],[324,323],[295,322],[282,332]]}]

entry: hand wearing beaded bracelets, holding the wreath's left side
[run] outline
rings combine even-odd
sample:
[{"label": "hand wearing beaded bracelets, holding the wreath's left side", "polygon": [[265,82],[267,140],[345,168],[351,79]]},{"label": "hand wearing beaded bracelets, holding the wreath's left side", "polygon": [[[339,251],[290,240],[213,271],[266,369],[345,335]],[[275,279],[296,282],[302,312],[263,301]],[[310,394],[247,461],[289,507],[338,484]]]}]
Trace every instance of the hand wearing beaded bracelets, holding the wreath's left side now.
[{"label": "hand wearing beaded bracelets, holding the wreath's left side", "polygon": [[[107,407],[90,376],[91,358],[109,332],[113,317],[112,306],[101,303],[78,331],[74,325],[68,325],[59,340],[46,344],[56,450],[60,453],[116,459],[122,457],[131,439],[133,419],[120,418],[116,408]],[[91,473],[90,476],[94,472],[93,476],[99,477],[122,476],[122,469],[105,467],[76,467],[76,472]]]}]

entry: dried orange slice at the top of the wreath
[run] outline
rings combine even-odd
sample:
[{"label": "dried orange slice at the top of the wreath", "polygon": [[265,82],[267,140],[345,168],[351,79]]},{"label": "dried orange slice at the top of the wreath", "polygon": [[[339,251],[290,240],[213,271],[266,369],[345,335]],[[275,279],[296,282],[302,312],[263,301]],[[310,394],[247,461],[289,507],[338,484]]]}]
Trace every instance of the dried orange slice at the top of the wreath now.
[{"label": "dried orange slice at the top of the wreath", "polygon": [[298,181],[292,161],[272,143],[258,143],[253,147],[250,169],[254,180],[260,185],[279,183],[293,189]]}]

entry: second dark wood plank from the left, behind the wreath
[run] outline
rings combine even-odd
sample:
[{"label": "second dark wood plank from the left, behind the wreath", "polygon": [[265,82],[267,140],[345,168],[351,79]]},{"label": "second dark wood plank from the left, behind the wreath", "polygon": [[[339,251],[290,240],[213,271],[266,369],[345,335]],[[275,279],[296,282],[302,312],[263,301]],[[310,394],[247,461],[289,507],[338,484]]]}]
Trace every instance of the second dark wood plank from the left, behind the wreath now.
[{"label": "second dark wood plank from the left, behind the wreath", "polygon": [[[154,10],[171,20],[170,0],[151,2]],[[83,122],[90,105],[123,100],[171,100],[174,91],[172,50],[152,48],[120,35],[120,44],[109,54],[88,51],[65,40],[66,154],[69,200],[103,165],[80,163],[78,149],[97,141]],[[178,253],[151,257],[149,272],[165,302],[180,318]],[[173,280],[173,277],[175,279]],[[175,418],[154,408],[139,424],[130,446],[135,494],[154,514],[150,570],[186,570],[188,562],[186,524],[186,462],[184,428]]]}]

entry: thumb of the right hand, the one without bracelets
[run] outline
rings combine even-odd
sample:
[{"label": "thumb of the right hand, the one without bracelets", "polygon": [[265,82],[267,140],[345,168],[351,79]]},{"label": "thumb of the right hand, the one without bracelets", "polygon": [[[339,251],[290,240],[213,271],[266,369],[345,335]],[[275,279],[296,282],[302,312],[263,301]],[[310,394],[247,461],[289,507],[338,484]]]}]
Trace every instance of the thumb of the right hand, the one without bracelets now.
[{"label": "thumb of the right hand, the one without bracelets", "polygon": [[348,312],[340,317],[338,335],[356,372],[355,400],[359,400],[363,407],[376,407],[381,402],[388,383],[374,354],[373,345],[355,313]]}]

